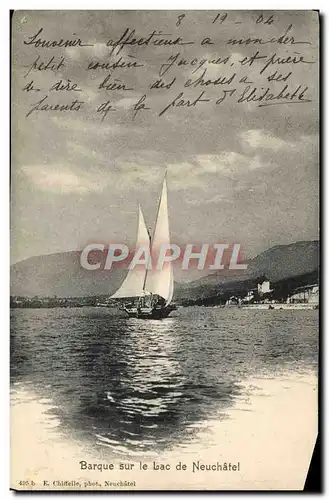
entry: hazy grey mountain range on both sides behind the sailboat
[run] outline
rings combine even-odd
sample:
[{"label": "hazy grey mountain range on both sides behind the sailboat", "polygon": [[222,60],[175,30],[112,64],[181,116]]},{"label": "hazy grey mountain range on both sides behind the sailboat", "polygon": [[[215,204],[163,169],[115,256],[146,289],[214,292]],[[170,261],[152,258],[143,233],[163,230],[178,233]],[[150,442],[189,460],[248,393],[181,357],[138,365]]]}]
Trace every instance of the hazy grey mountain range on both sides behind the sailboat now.
[{"label": "hazy grey mountain range on both sides behind the sailboat", "polygon": [[[80,265],[80,252],[64,252],[31,257],[11,266],[11,295],[25,297],[82,297],[111,295],[122,283],[123,268],[104,270],[106,253],[95,251],[91,260],[101,269],[88,271]],[[89,259],[90,260],[90,259]],[[271,282],[309,275],[319,267],[319,242],[298,241],[278,245],[246,261],[246,271],[224,269],[193,282],[176,284],[175,299],[197,299],[218,294],[220,290],[253,286],[258,278]]]}]

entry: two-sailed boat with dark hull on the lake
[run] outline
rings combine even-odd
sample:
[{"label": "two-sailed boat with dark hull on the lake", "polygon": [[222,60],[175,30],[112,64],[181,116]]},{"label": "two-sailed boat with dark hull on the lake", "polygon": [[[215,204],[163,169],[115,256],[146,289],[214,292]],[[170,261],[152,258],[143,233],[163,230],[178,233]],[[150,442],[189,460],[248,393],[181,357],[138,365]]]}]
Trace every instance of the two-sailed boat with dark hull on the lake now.
[{"label": "two-sailed boat with dark hull on the lake", "polygon": [[[136,249],[143,246],[154,257],[161,245],[169,245],[169,215],[166,176],[162,185],[153,237],[150,238],[144,215],[139,206]],[[131,318],[163,319],[176,309],[172,304],[174,276],[171,262],[161,269],[151,265],[136,265],[111,299],[121,299],[122,308]]]}]

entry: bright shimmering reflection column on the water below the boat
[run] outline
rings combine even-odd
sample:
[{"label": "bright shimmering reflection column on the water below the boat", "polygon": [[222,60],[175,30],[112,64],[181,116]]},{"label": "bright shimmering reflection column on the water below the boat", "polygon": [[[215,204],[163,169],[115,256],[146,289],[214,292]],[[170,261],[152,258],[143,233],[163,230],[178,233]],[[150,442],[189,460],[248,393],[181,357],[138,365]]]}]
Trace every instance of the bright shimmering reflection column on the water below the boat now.
[{"label": "bright shimmering reflection column on the water below the boat", "polygon": [[120,379],[108,380],[99,394],[108,419],[96,434],[97,444],[118,453],[159,450],[195,421],[195,408],[187,408],[192,401],[177,357],[173,323],[174,318],[130,320],[129,355]]}]

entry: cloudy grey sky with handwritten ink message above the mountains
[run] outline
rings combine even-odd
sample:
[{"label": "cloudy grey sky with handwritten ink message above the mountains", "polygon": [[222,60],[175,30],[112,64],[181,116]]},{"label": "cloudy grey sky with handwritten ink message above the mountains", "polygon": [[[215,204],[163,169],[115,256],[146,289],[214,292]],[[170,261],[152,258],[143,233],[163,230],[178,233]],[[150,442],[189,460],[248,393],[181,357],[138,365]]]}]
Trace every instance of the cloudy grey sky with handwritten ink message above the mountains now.
[{"label": "cloudy grey sky with handwritten ink message above the mountains", "polygon": [[[185,14],[179,26],[178,16]],[[17,11],[12,24],[12,263],[31,256],[77,250],[87,242],[134,242],[138,204],[153,227],[164,172],[168,172],[168,201],[172,240],[180,243],[240,243],[245,257],[278,244],[318,238],[318,22],[311,11],[273,15],[273,23],[256,23],[259,12],[228,11],[215,23],[215,11]],[[223,13],[221,13],[223,14]],[[252,43],[228,46],[232,37],[289,35],[307,44]],[[80,37],[86,47],[40,49],[26,45],[40,29],[47,40]],[[135,36],[153,30],[184,40],[210,37],[212,46],[125,46],[111,56],[108,40],[126,29]],[[75,34],[75,35],[74,35]],[[164,76],[175,88],[150,90],[170,55],[186,60],[230,55],[233,66],[206,63],[207,78],[243,75],[258,89],[266,87],[262,62],[241,68],[238,61],[256,50],[270,57],[302,54],[313,64],[273,65],[292,70],[291,89],[307,87],[311,102],[259,107],[236,99],[220,106],[198,104],[160,110],[184,91],[195,99],[203,88],[185,89],[193,66],[172,68]],[[296,54],[296,52],[298,54]],[[30,70],[38,59],[46,64],[64,57],[64,69]],[[112,80],[129,90],[98,89],[109,71],[86,71],[91,61],[138,61],[136,69],[116,69]],[[237,68],[237,69],[236,69]],[[29,73],[28,73],[29,72]],[[27,74],[28,73],[28,74]],[[77,83],[81,92],[50,92],[58,80]],[[40,91],[22,90],[33,80]],[[285,84],[271,83],[281,90]],[[244,87],[238,84],[238,88]],[[215,99],[223,86],[207,86]],[[226,88],[226,87],[225,87]],[[233,88],[231,85],[230,88]],[[72,96],[72,94],[74,94]],[[36,111],[33,105],[84,101],[78,112]],[[133,106],[147,96],[150,110],[133,119]],[[115,112],[102,121],[96,110],[111,100]]]}]

